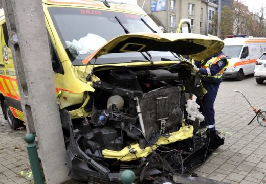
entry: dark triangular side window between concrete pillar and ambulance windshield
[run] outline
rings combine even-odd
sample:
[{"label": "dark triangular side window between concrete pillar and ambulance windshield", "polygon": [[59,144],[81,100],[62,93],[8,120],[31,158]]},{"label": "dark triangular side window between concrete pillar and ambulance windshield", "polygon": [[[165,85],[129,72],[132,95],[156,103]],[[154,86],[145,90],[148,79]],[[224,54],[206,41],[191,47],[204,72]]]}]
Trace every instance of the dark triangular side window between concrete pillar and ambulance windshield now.
[{"label": "dark triangular side window between concrete pillar and ambulance windshield", "polygon": [[55,50],[54,44],[51,41],[51,38],[49,39],[49,45],[50,45],[53,71],[56,73],[64,74],[63,65],[58,57],[58,54]]}]

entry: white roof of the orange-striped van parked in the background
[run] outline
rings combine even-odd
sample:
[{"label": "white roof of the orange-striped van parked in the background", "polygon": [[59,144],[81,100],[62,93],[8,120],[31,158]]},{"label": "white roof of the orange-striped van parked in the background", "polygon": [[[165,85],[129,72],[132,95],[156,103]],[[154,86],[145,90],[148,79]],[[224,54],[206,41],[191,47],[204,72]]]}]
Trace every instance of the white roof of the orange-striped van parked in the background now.
[{"label": "white roof of the orange-striped van parked in the background", "polygon": [[226,38],[225,45],[243,45],[245,43],[266,43],[266,38]]}]

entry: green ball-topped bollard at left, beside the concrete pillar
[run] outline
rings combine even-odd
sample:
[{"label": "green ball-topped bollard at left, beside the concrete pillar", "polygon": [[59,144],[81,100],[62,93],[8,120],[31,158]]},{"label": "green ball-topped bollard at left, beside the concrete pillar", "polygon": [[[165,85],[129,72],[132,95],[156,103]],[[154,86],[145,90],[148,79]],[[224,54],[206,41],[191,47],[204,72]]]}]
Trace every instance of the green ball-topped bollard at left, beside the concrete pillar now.
[{"label": "green ball-topped bollard at left, beside the concrete pillar", "polygon": [[34,143],[35,137],[31,133],[27,133],[24,137],[24,140],[28,143],[26,147],[29,155],[34,183],[43,184],[43,177],[40,168],[38,152],[36,144]]}]

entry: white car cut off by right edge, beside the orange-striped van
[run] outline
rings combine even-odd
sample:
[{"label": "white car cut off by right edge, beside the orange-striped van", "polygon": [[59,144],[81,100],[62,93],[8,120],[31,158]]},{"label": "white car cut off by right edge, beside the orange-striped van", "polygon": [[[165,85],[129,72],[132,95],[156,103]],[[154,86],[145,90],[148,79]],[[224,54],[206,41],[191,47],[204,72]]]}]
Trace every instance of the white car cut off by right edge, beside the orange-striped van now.
[{"label": "white car cut off by right edge, beside the orange-striped van", "polygon": [[262,84],[266,80],[266,52],[256,61],[254,77],[258,84]]}]

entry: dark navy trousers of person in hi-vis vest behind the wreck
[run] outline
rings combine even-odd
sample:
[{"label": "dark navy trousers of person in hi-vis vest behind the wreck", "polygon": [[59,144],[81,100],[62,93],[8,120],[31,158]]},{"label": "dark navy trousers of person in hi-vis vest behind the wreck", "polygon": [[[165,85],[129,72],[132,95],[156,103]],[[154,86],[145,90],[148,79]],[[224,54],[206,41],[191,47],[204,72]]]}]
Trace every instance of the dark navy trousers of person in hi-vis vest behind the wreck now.
[{"label": "dark navy trousers of person in hi-vis vest behind the wreck", "polygon": [[204,95],[202,99],[197,98],[196,103],[200,105],[200,112],[202,112],[205,120],[203,123],[206,128],[210,128],[215,130],[215,111],[214,111],[214,101],[216,99],[218,89],[220,84],[213,84],[213,83],[202,83],[204,88],[208,91],[207,94]]}]

